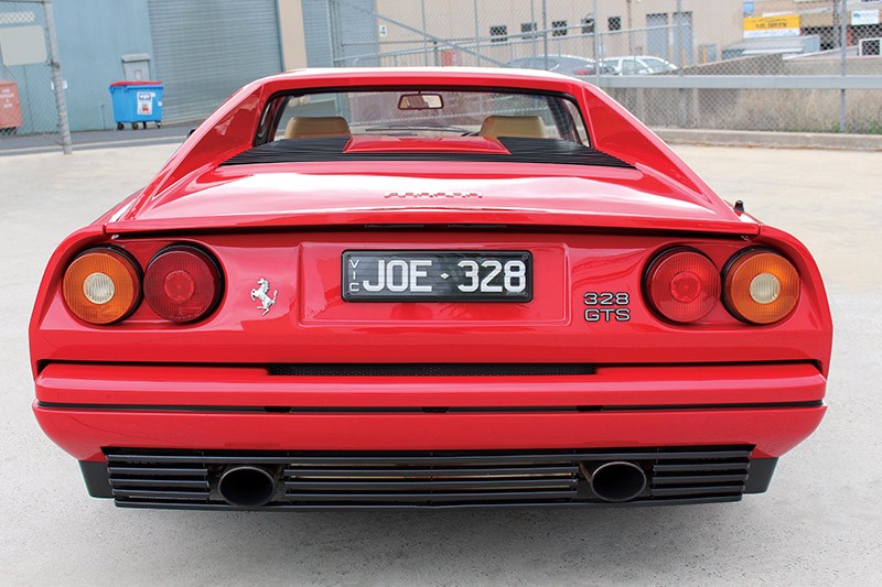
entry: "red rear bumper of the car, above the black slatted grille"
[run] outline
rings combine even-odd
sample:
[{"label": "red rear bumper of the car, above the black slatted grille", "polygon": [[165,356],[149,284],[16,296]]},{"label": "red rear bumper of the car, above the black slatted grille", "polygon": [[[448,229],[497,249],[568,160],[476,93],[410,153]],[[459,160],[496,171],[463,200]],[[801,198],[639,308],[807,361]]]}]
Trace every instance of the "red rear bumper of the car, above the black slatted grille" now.
[{"label": "red rear bumper of the car, above the black slatted grille", "polygon": [[[762,491],[774,468],[767,464],[820,423],[825,385],[810,363],[383,380],[272,377],[262,368],[51,365],[37,377],[34,412],[105,488],[106,453],[128,448],[333,452],[357,460],[388,452],[747,447],[745,458],[765,464],[747,483]],[[650,470],[653,459],[643,460]]]}]

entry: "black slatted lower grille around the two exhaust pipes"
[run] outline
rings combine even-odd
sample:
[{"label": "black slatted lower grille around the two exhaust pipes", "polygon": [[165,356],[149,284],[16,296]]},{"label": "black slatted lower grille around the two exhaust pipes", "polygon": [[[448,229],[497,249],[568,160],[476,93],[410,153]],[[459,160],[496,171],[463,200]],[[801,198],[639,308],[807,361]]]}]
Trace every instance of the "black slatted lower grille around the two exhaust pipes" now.
[{"label": "black slatted lower grille around the two exhaust pipes", "polygon": [[736,501],[750,468],[749,446],[553,450],[304,453],[107,449],[120,507],[230,508],[217,478],[230,465],[279,472],[261,509],[385,507],[607,506],[584,470],[625,460],[647,489],[627,504]]}]

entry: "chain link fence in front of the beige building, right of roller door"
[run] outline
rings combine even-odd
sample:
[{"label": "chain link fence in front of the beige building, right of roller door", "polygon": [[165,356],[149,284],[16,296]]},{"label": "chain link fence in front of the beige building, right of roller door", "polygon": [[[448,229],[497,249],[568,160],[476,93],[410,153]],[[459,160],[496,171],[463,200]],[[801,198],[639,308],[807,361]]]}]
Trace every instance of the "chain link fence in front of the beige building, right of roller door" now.
[{"label": "chain link fence in front of the beige building, right of roller door", "polygon": [[330,0],[336,66],[585,78],[652,127],[882,133],[882,2]]}]

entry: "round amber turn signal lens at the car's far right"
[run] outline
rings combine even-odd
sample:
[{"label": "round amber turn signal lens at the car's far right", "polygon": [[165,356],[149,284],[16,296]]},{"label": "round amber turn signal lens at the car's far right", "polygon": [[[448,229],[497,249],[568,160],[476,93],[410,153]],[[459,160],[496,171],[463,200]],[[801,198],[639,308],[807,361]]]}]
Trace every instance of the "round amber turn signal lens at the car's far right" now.
[{"label": "round amber turn signal lens at the car's far right", "polygon": [[723,301],[744,322],[772,324],[799,300],[799,274],[774,251],[753,250],[736,257],[725,270]]}]

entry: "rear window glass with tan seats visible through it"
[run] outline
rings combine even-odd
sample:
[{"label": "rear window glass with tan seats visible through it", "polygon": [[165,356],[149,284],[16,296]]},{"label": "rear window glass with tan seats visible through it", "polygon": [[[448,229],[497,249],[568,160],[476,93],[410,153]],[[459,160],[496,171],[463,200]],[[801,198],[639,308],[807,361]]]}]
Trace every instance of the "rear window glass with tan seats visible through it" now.
[{"label": "rear window glass with tan seats visible through it", "polygon": [[461,88],[283,96],[265,112],[256,144],[357,135],[521,137],[589,145],[568,97]]}]

